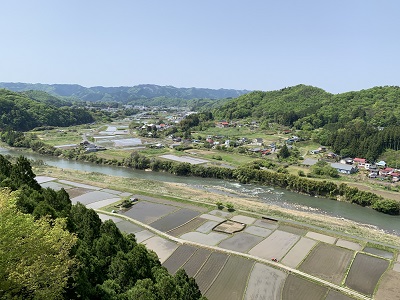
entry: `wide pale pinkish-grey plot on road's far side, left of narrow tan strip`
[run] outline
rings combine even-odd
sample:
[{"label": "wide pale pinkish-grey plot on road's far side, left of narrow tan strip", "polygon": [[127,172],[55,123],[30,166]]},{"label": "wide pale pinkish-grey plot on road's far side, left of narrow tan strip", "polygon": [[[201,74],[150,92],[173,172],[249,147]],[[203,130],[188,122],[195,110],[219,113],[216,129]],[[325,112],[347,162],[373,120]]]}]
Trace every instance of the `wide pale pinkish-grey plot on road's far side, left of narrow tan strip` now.
[{"label": "wide pale pinkish-grey plot on road's far side, left of narrow tan strip", "polygon": [[251,249],[249,254],[264,259],[276,258],[280,260],[299,238],[298,235],[276,230],[264,241]]}]

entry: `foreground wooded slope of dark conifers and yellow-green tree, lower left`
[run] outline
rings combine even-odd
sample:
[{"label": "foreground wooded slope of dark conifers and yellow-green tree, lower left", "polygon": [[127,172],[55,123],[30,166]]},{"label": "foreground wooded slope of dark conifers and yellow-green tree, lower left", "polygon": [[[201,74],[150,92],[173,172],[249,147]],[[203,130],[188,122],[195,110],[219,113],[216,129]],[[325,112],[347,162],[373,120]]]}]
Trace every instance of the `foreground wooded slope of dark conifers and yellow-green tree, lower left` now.
[{"label": "foreground wooded slope of dark conifers and yellow-green tree, lower left", "polygon": [[1,299],[202,298],[193,278],[170,275],[133,234],[72,205],[64,189],[42,188],[22,156],[0,155],[0,219]]}]

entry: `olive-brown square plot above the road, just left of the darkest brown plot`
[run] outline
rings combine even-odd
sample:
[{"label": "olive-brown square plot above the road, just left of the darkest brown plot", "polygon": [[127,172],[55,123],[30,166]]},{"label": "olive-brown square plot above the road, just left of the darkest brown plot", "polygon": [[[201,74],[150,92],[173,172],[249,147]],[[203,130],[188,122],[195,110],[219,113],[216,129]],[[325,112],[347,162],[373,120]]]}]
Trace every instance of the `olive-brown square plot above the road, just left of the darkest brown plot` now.
[{"label": "olive-brown square plot above the road, just left of the darkest brown plot", "polygon": [[300,265],[299,270],[340,284],[353,258],[353,251],[320,243]]}]

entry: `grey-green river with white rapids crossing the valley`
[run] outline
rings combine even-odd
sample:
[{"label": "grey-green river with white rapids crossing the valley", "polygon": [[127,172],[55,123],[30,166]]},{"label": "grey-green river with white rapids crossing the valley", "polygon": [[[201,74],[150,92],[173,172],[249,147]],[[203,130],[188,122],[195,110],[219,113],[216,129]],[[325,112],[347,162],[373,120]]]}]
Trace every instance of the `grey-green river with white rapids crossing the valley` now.
[{"label": "grey-green river with white rapids crossing the valley", "polygon": [[24,155],[29,159],[40,159],[46,164],[58,168],[86,172],[99,172],[112,176],[143,178],[162,182],[184,183],[194,188],[210,192],[228,195],[231,193],[235,196],[250,196],[254,199],[254,201],[264,202],[293,210],[308,211],[316,214],[349,219],[358,223],[368,224],[387,233],[400,236],[400,216],[390,216],[379,213],[370,208],[358,206],[356,204],[339,202],[325,198],[310,197],[293,193],[284,189],[255,184],[240,184],[238,182],[220,179],[182,177],[165,172],[146,172],[122,167],[96,165],[92,163],[66,160],[51,156],[42,156],[35,153],[26,153],[3,148],[0,148],[0,154],[10,154],[13,156]]}]

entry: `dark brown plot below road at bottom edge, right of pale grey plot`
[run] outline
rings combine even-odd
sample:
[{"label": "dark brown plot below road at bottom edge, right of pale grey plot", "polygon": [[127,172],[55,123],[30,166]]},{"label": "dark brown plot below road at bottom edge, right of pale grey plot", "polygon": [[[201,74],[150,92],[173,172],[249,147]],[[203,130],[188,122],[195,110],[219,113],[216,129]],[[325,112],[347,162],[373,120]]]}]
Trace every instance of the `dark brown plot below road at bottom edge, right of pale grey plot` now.
[{"label": "dark brown plot below road at bottom edge, right of pale grey plot", "polygon": [[282,291],[282,300],[321,300],[328,288],[306,279],[289,275]]}]

